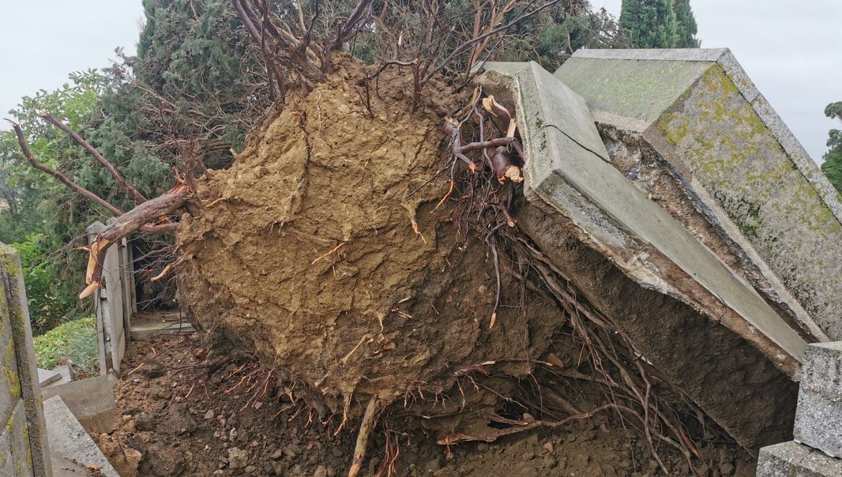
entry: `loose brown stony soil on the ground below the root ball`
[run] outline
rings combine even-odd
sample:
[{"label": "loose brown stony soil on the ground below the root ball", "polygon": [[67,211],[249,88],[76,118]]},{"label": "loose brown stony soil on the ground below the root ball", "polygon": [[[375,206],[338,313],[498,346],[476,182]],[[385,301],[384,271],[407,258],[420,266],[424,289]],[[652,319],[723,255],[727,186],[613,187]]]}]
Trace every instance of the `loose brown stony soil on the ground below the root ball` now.
[{"label": "loose brown stony soil on the ground below the root ball", "polygon": [[[131,449],[141,453],[136,475],[332,476],[347,473],[355,429],[336,431],[320,422],[296,394],[295,384],[267,380],[250,355],[210,347],[208,336],[152,337],[132,342],[117,384],[118,428],[100,437],[120,465]],[[269,384],[267,384],[269,383]],[[586,390],[569,390],[583,409]],[[364,475],[532,476],[663,475],[642,435],[616,415],[599,413],[552,430],[536,429],[494,443],[447,448],[418,430],[385,429],[378,422]],[[389,446],[399,450],[388,458]],[[707,443],[696,462],[701,474],[754,475],[754,459],[733,443]],[[448,455],[450,454],[450,455]],[[690,475],[683,457],[664,450],[670,475]],[[124,477],[131,472],[121,469]]]}]

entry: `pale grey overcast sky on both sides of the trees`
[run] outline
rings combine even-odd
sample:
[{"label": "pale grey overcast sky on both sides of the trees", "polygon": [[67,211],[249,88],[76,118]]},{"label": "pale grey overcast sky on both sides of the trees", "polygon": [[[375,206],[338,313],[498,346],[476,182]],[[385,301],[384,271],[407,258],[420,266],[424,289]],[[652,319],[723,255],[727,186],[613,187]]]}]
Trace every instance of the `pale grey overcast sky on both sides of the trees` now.
[{"label": "pale grey overcast sky on both sides of the trees", "polygon": [[[621,0],[591,0],[619,14]],[[817,162],[842,101],[842,0],[691,0],[702,46],[728,47]],[[133,53],[141,0],[0,0],[0,118],[24,95]],[[6,128],[0,125],[0,128]]]}]

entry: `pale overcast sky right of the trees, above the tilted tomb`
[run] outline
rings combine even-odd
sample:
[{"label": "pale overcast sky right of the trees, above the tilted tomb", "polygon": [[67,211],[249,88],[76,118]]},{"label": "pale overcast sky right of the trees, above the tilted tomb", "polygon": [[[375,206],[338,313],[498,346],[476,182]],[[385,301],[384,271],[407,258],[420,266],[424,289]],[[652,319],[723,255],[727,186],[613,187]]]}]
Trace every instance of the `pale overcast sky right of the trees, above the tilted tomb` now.
[{"label": "pale overcast sky right of the trees, above the tilted tomb", "polygon": [[[591,0],[620,15],[621,0]],[[822,162],[824,115],[842,101],[842,0],[690,0],[702,48],[730,48],[786,125]]]}]

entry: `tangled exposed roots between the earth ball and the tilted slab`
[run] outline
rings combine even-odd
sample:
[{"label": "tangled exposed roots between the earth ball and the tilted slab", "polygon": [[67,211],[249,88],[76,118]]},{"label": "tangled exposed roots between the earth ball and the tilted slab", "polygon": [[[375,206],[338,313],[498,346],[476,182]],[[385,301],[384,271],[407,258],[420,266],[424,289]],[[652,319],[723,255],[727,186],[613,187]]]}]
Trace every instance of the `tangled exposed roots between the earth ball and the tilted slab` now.
[{"label": "tangled exposed roots between the earth ball and the tilted slab", "polygon": [[[669,474],[668,469],[658,455],[662,443],[684,454],[690,468],[693,469],[691,458],[699,457],[695,443],[679,419],[678,412],[661,399],[656,391],[670,390],[669,384],[653,377],[657,374],[642,358],[632,340],[610,317],[602,315],[589,305],[563,273],[514,226],[514,220],[509,214],[516,193],[513,183],[520,183],[522,180],[522,147],[517,136],[516,119],[492,97],[482,98],[482,90],[479,88],[473,96],[472,104],[468,104],[463,111],[467,112],[465,117],[448,119],[442,126],[450,136],[450,157],[442,169],[451,169],[452,181],[450,192],[442,199],[442,203],[447,204],[452,220],[460,225],[466,236],[465,240],[468,240],[469,233],[476,234],[483,237],[482,240],[488,246],[497,286],[491,326],[493,327],[496,320],[502,296],[501,273],[509,273],[519,278],[525,286],[552,299],[568,315],[573,336],[581,347],[579,360],[584,361],[587,366],[579,363],[576,370],[573,370],[560,367],[559,364],[562,363],[539,362],[526,356],[525,359],[531,363],[545,364],[541,367],[541,372],[536,372],[533,376],[534,384],[539,389],[537,392],[541,392],[541,387],[552,386],[552,382],[541,383],[539,379],[544,375],[585,379],[604,388],[606,402],[594,410],[579,411],[576,406],[557,396],[560,399],[541,400],[541,410],[545,411],[547,416],[562,412],[568,417],[552,421],[521,421],[489,415],[488,421],[507,427],[495,427],[477,436],[445,435],[441,437],[440,443],[451,445],[470,440],[493,441],[504,435],[536,427],[559,427],[570,421],[588,418],[600,411],[616,411],[623,421],[629,420],[643,432],[653,458],[665,473]],[[502,119],[504,124],[498,128],[493,120],[488,120],[486,114],[492,116],[490,119]],[[467,123],[471,118],[474,121],[472,128],[469,128]],[[470,135],[477,141],[463,145],[462,137],[469,135],[466,131],[470,131]],[[477,161],[467,156],[468,153],[475,154],[482,160]],[[467,165],[460,172],[455,172],[457,160]],[[477,167],[477,164],[482,164],[483,167]],[[456,196],[458,199],[452,199]],[[462,370],[461,374],[457,375],[461,376],[461,379],[470,379],[470,384],[476,387],[480,384],[472,379],[471,374],[486,374],[488,366],[493,364],[483,363],[482,366]],[[590,374],[579,371],[579,368],[589,369]],[[680,392],[675,394],[681,395]],[[506,400],[514,402],[510,398]],[[692,405],[689,407],[692,408]]]}]

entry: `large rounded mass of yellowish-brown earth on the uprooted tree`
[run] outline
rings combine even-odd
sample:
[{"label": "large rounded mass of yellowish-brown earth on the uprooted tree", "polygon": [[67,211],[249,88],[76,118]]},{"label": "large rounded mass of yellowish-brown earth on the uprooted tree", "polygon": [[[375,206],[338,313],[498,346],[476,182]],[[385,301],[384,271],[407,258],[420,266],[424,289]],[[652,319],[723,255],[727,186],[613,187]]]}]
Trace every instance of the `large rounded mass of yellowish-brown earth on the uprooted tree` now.
[{"label": "large rounded mass of yellowish-brown earth on the uprooted tree", "polygon": [[[367,99],[362,76],[345,61],[200,183],[179,231],[180,301],[306,383],[327,414],[359,415],[372,396],[424,416],[493,405],[498,376],[529,374],[562,310],[504,277],[489,329],[488,249],[432,213],[447,181],[422,187],[442,162],[440,118],[461,98],[434,94],[413,112],[407,75],[384,73]],[[493,374],[461,384],[482,363]]]}]

